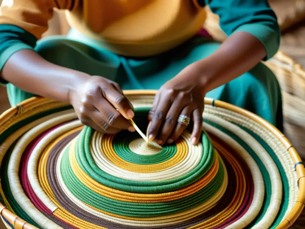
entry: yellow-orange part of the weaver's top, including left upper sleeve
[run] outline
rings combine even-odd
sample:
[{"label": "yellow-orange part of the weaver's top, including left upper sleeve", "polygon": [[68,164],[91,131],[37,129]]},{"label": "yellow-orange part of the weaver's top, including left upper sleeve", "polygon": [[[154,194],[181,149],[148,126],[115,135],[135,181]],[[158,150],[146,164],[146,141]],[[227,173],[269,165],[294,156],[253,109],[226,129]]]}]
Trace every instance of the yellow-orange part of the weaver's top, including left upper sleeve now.
[{"label": "yellow-orange part of the weaver's top, including left upper sleeve", "polygon": [[53,8],[66,9],[71,27],[126,56],[165,52],[195,35],[206,13],[196,0],[4,0],[0,24],[40,39]]}]

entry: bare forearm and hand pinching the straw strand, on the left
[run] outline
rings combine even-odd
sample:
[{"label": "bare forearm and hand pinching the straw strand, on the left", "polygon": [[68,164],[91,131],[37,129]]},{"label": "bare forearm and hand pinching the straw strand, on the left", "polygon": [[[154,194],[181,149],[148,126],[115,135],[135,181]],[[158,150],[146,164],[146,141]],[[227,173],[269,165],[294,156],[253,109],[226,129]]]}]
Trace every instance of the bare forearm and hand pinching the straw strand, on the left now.
[{"label": "bare forearm and hand pinching the straw strand, on the left", "polygon": [[84,125],[101,133],[135,131],[127,120],[133,107],[111,80],[52,64],[29,49],[9,58],[2,77],[25,91],[70,103]]}]

